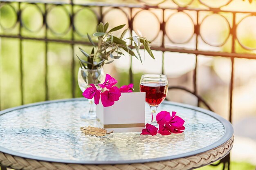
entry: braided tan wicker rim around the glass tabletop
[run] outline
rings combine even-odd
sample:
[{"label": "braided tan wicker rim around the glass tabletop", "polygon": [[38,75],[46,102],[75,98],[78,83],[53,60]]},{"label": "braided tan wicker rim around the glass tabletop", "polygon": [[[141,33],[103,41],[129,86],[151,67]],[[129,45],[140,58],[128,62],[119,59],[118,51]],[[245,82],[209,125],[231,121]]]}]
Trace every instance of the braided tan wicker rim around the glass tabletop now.
[{"label": "braided tan wicker rim around the glass tabletop", "polygon": [[194,156],[159,162],[90,165],[37,161],[0,152],[0,164],[16,170],[189,170],[208,165],[227,155],[234,144],[234,136],[227,142]]}]

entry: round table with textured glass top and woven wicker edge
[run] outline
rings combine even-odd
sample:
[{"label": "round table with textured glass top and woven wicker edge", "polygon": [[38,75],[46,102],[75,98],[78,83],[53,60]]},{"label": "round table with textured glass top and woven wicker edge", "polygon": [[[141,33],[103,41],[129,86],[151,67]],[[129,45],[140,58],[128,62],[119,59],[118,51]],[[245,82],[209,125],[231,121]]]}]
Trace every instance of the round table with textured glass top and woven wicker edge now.
[{"label": "round table with textured glass top and woven wicker edge", "polygon": [[[0,112],[0,164],[24,170],[193,169],[225,157],[233,146],[229,121],[202,108],[163,102],[186,122],[182,134],[112,133],[83,135],[83,98],[40,102]],[[146,106],[146,123],[150,122]]]}]

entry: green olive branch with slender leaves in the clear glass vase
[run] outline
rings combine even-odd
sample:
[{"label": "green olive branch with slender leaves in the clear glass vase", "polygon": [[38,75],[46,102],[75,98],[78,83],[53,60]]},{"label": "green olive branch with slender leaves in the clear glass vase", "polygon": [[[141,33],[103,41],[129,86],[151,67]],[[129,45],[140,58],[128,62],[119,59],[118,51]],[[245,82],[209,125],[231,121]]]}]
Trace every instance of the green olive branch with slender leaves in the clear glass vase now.
[{"label": "green olive branch with slender leaves in the clear glass vase", "polygon": [[[108,23],[104,25],[101,22],[97,26],[97,32],[94,33],[93,36],[96,36],[98,38],[98,44],[93,42],[92,38],[87,33],[88,39],[93,47],[90,54],[86,53],[83,49],[79,47],[80,51],[87,58],[87,60],[83,60],[78,55],[76,55],[80,61],[81,68],[101,68],[104,64],[110,64],[114,62],[115,59],[119,59],[121,55],[124,55],[124,51],[126,51],[131,56],[135,56],[142,63],[141,55],[139,53],[141,44],[143,45],[142,48],[144,49],[144,51],[147,51],[148,54],[153,59],[155,59],[149,46],[151,42],[149,42],[146,38],[141,36],[132,36],[124,39],[124,35],[128,31],[128,29],[124,30],[121,36],[117,38],[116,36],[112,35],[112,32],[122,29],[125,24],[116,26],[110,29],[110,31],[107,31],[108,25]],[[128,46],[125,40],[130,40],[132,42],[132,44],[135,46],[137,54],[132,51],[132,49]]]}]

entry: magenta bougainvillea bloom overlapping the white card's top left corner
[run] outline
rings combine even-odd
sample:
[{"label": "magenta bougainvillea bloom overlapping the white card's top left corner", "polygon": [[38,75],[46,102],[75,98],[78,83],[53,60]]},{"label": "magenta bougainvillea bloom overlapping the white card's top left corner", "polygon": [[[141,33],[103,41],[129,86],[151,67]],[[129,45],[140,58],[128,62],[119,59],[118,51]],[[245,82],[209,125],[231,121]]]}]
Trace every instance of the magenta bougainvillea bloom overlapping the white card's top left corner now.
[{"label": "magenta bougainvillea bloom overlapping the white card's top left corner", "polygon": [[101,93],[101,102],[104,107],[112,106],[115,101],[119,100],[121,92],[117,86],[109,89],[109,91],[104,91]]}]

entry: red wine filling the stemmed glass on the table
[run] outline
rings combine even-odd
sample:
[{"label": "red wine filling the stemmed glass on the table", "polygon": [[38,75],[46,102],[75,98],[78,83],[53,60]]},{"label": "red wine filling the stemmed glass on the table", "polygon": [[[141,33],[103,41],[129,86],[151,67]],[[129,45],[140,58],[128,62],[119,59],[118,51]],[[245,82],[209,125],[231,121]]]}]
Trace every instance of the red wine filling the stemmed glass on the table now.
[{"label": "red wine filling the stemmed glass on the table", "polygon": [[140,91],[146,92],[146,103],[149,106],[158,106],[165,99],[168,84],[163,82],[144,82],[140,84]]}]

